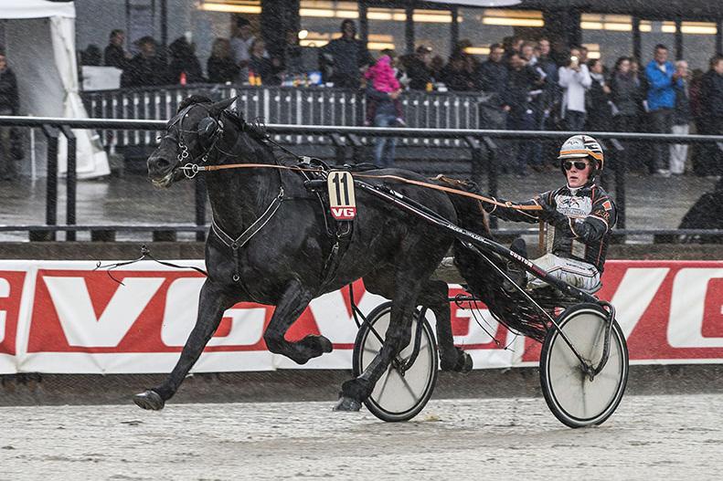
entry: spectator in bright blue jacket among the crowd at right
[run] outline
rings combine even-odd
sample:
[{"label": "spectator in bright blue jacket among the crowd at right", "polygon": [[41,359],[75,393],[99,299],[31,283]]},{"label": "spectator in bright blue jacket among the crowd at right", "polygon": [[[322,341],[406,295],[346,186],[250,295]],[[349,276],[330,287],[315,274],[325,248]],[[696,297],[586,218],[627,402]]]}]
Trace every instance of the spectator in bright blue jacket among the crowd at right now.
[{"label": "spectator in bright blue jacket among the crowd at right", "polygon": [[[675,107],[675,87],[681,87],[675,66],[668,61],[668,49],[665,45],[655,46],[655,57],[645,68],[648,79],[648,110],[653,122],[653,130],[670,133],[673,129],[673,108]],[[664,143],[655,144],[653,169],[655,175],[670,176],[670,151]]]}]

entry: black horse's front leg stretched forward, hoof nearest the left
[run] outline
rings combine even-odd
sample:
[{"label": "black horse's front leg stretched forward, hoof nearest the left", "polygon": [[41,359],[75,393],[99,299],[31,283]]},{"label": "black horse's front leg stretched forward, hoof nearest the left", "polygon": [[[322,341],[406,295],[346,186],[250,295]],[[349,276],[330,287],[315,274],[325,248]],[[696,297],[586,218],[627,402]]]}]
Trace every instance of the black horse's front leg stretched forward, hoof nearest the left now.
[{"label": "black horse's front leg stretched forward, hoof nearest the left", "polygon": [[133,396],[133,402],[144,409],[163,409],[165,402],[173,397],[203,352],[208,340],[216,332],[224,311],[236,302],[239,302],[239,299],[231,298],[221,285],[207,278],[198,299],[196,326],[191,330],[174,370],[159,386]]}]

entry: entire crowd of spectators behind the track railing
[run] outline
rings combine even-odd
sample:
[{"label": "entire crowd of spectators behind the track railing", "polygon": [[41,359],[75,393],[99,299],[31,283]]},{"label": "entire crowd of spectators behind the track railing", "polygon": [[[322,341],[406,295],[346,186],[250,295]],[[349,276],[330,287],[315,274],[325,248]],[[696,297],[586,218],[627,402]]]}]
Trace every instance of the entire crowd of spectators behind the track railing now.
[{"label": "entire crowd of spectators behind the track railing", "polygon": [[[466,40],[446,61],[424,45],[399,57],[383,50],[375,59],[357,38],[355,22],[345,19],[341,36],[318,49],[319,65],[308,66],[297,32],[288,32],[284,47],[271,56],[243,17],[237,18],[232,37],[213,42],[205,69],[190,37],[178,37],[165,48],[153,37],[141,37],[134,45],[137,53],[132,55],[125,49],[125,33],[113,30],[105,50],[89,47],[81,63],[121,69],[122,88],[199,82],[280,85],[287,75],[318,69],[327,85],[364,89],[367,125],[379,127],[405,125],[400,101],[405,90],[452,90],[485,94],[481,123],[489,129],[686,134],[693,125],[697,133],[723,134],[723,56],[711,58],[707,72],[691,72],[685,60],[669,60],[664,45],[654,48],[646,65],[622,57],[610,70],[608,59],[589,58],[587,48],[553,50],[545,37],[507,37],[490,47],[484,61],[468,53],[471,43]],[[16,78],[0,54],[0,112],[17,110]],[[9,136],[7,129],[0,129],[4,159],[12,143]],[[658,143],[651,149],[631,141],[624,146],[630,170],[660,176],[686,172],[686,145]],[[505,165],[521,176],[527,169],[546,169],[542,159],[548,148],[540,141],[516,142],[516,149],[507,150],[507,155],[514,152],[514,159]],[[377,140],[379,165],[392,165],[394,154],[394,139]],[[719,175],[721,169],[718,151],[701,148],[687,170]]]}]

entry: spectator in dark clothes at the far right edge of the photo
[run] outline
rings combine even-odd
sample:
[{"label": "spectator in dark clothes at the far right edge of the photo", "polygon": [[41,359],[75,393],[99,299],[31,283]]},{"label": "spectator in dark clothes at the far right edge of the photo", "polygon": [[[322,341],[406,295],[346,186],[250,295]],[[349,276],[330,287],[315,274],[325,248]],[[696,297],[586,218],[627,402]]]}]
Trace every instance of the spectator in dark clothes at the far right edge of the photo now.
[{"label": "spectator in dark clothes at the far right edge of the photo", "polygon": [[[700,84],[701,126],[705,135],[723,134],[723,55],[710,59],[710,69]],[[712,148],[706,155],[707,162],[699,162],[698,173],[702,175],[720,175],[723,173],[723,159],[717,148]]]}]

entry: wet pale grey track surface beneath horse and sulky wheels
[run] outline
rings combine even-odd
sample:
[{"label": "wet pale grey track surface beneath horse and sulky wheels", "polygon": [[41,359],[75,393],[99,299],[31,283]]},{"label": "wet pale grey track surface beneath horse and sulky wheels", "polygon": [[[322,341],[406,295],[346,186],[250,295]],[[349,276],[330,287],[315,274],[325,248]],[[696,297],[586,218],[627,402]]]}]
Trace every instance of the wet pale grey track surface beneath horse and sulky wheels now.
[{"label": "wet pale grey track surface beneath horse and sulky wheels", "polygon": [[627,396],[571,430],[539,398],[432,401],[415,421],[332,403],[0,408],[0,479],[720,479],[723,396]]}]

